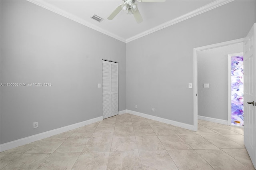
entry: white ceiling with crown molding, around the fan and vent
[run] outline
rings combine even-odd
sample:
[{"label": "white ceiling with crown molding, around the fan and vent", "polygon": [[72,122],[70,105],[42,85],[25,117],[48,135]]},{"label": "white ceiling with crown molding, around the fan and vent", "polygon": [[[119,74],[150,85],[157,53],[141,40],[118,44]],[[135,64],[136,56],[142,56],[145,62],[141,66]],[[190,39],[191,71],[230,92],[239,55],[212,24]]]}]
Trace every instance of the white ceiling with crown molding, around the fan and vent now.
[{"label": "white ceiling with crown molding, around the fan and vent", "polygon": [[[108,16],[122,4],[122,0],[28,0],[85,26],[107,34],[122,42],[130,42],[167,26],[206,12],[232,0],[166,0],[166,2],[138,2],[143,22],[121,11],[113,20]],[[97,22],[96,14],[104,18]]]}]

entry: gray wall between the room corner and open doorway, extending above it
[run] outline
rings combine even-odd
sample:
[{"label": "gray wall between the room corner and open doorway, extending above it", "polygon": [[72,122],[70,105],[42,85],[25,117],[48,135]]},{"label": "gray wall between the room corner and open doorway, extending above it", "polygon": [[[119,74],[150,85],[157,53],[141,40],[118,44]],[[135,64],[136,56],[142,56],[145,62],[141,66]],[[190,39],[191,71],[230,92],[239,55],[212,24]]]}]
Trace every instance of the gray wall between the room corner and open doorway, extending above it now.
[{"label": "gray wall between the room corner and open doorway, extending above it", "polygon": [[254,3],[233,1],[127,43],[127,109],[193,125],[193,49],[244,38]]}]

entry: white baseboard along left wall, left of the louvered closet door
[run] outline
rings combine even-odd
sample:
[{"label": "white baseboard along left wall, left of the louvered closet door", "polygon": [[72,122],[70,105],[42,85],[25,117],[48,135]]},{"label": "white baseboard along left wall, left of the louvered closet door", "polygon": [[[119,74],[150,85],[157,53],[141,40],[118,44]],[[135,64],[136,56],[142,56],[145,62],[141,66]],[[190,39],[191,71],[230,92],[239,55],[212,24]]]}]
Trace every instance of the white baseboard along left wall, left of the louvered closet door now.
[{"label": "white baseboard along left wall, left of the louvered closet door", "polygon": [[68,125],[68,126],[65,126],[65,127],[56,128],[54,130],[49,130],[47,132],[42,132],[42,133],[39,133],[39,134],[28,136],[26,138],[21,138],[21,139],[18,139],[18,140],[7,142],[7,143],[4,143],[4,144],[0,145],[0,152],[3,152],[3,151],[8,150],[8,149],[16,148],[16,147],[22,146],[24,144],[35,142],[37,140],[48,138],[50,136],[60,134],[62,132],[66,132],[68,130],[73,130],[75,128],[83,127],[85,125],[89,125],[89,124],[92,124],[92,123],[95,123],[95,122],[98,122],[98,121],[102,121],[102,120],[103,120],[102,116],[101,117],[96,117],[94,119],[90,119],[90,120],[83,121],[83,122],[80,122],[80,123],[75,123],[73,125]]}]

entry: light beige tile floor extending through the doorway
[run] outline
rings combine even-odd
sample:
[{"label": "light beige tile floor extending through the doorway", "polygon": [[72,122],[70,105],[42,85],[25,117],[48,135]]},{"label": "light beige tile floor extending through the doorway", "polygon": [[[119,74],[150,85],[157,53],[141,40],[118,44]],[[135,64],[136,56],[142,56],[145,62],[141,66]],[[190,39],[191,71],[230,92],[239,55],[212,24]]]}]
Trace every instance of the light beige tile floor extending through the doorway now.
[{"label": "light beige tile floor extending through the doorway", "polygon": [[194,132],[130,114],[0,153],[1,170],[254,170],[243,129],[198,120]]}]

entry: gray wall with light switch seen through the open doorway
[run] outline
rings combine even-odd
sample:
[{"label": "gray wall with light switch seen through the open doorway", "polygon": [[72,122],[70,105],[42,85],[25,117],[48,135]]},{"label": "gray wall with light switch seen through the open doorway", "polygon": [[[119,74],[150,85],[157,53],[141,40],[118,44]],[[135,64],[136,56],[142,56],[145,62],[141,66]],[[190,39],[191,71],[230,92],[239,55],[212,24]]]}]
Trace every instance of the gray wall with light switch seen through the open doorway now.
[{"label": "gray wall with light switch seen through the open doorway", "polygon": [[243,51],[243,43],[198,51],[198,115],[228,120],[228,54]]}]

